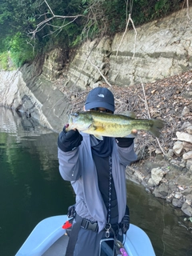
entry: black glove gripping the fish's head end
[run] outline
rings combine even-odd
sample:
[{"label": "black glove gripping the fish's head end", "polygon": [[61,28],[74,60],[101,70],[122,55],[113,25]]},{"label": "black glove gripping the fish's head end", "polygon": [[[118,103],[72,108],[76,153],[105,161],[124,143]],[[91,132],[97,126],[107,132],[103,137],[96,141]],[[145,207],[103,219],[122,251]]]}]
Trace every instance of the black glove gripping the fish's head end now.
[{"label": "black glove gripping the fish's head end", "polygon": [[64,152],[76,149],[82,142],[82,134],[78,130],[69,130],[66,132],[64,126],[62,132],[58,135],[58,148]]}]

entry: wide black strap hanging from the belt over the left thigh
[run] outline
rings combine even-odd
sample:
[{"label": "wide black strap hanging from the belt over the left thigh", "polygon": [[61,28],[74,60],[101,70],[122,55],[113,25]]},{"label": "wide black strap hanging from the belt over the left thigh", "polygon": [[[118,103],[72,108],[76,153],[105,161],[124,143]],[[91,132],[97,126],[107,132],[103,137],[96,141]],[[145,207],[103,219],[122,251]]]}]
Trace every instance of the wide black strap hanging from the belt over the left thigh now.
[{"label": "wide black strap hanging from the belt over the left thigh", "polygon": [[70,238],[66,247],[66,256],[74,255],[74,247],[78,239],[78,232],[81,228],[82,218],[76,214],[75,223],[73,223],[72,230],[70,232]]}]

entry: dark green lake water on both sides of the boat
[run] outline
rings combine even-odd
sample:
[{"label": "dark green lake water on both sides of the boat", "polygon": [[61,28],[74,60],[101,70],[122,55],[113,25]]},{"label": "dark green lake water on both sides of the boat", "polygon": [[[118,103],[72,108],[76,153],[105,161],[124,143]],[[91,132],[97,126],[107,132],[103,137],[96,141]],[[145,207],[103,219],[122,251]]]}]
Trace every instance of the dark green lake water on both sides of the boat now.
[{"label": "dark green lake water on both sides of the boat", "polygon": [[[14,256],[43,218],[66,214],[70,182],[58,173],[58,134],[0,107],[0,255]],[[127,182],[131,222],[149,235],[157,256],[192,255],[180,210]],[[143,255],[147,256],[147,255]]]}]

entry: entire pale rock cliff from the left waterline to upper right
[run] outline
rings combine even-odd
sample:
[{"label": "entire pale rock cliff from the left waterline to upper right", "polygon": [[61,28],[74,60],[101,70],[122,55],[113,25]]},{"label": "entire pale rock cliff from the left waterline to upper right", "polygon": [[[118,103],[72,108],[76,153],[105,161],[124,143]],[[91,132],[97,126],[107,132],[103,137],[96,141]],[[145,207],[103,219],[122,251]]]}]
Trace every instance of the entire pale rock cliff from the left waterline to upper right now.
[{"label": "entire pale rock cliff from the left waterline to upper right", "polygon": [[[72,91],[98,82],[137,86],[190,70],[192,30],[186,9],[125,32],[87,41],[70,52],[61,43],[31,65],[1,71],[0,105],[27,111],[43,126],[61,130],[72,108]],[[62,92],[55,86],[58,78]]]}]

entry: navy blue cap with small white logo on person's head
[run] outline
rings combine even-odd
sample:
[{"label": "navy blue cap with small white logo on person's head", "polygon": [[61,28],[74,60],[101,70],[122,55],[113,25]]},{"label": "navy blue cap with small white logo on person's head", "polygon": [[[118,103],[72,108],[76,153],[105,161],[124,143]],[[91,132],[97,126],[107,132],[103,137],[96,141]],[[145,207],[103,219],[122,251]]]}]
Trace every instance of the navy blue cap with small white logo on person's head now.
[{"label": "navy blue cap with small white logo on person's head", "polygon": [[106,110],[114,112],[114,94],[107,88],[94,88],[87,95],[85,108],[91,110],[94,107],[104,107]]}]

